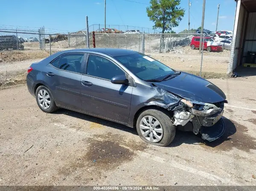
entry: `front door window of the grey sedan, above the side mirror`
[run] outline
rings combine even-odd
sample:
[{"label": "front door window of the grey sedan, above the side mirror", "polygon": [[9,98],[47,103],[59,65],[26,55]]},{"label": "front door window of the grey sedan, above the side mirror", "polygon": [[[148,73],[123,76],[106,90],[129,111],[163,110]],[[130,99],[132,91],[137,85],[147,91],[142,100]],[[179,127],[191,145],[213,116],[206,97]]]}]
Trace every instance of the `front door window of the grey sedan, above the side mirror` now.
[{"label": "front door window of the grey sedan, above the side mirror", "polygon": [[108,59],[95,55],[90,55],[88,58],[86,74],[111,80],[112,77],[124,75],[125,73]]}]

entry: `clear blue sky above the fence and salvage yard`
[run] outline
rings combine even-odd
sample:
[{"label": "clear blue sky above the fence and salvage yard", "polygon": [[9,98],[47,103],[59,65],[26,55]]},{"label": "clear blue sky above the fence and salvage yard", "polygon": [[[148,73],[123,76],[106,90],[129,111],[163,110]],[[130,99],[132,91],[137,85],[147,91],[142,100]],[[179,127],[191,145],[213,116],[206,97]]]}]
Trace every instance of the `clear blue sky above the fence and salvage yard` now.
[{"label": "clear blue sky above the fence and salvage yard", "polygon": [[[152,28],[154,24],[146,14],[150,0],[131,1],[139,3],[107,0],[106,24]],[[203,0],[190,2],[190,28],[198,28],[201,26]],[[236,10],[234,0],[206,0],[204,28],[215,31],[218,3],[218,30],[233,30]],[[188,29],[188,0],[181,0],[180,7],[185,9],[185,15],[180,25],[173,29],[176,32]],[[31,27],[28,29],[36,29],[44,26],[49,30],[78,31],[86,28],[86,15],[89,25],[104,24],[104,0],[1,0],[0,28],[27,26]]]}]

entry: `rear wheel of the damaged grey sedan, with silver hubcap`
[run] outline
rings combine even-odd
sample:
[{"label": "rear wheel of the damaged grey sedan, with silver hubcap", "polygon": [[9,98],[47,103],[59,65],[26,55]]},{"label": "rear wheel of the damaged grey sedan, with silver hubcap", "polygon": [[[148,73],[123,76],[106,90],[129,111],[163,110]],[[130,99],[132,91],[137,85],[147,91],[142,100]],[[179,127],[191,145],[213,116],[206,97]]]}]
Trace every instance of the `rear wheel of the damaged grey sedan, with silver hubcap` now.
[{"label": "rear wheel of the damaged grey sedan, with silver hubcap", "polygon": [[[45,91],[46,91],[46,93],[44,95]],[[41,95],[41,97],[39,94]],[[49,95],[49,98],[48,98],[48,95]],[[38,104],[38,107],[46,113],[52,113],[53,111],[56,111],[58,109],[58,107],[56,106],[55,101],[52,97],[51,92],[45,86],[39,86],[36,89],[35,98],[36,98],[36,103]],[[42,100],[42,99],[45,101],[39,102],[39,100]],[[46,100],[48,100],[48,102]]]}]

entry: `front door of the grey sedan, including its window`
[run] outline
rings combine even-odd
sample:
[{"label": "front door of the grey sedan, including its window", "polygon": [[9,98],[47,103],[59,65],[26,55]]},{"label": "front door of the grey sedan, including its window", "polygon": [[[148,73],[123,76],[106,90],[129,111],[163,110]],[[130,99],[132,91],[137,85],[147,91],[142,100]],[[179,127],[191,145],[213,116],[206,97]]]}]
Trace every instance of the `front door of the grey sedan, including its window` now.
[{"label": "front door of the grey sedan, including its window", "polygon": [[112,77],[125,71],[106,57],[90,54],[85,72],[81,77],[82,111],[127,123],[133,87],[111,83]]}]

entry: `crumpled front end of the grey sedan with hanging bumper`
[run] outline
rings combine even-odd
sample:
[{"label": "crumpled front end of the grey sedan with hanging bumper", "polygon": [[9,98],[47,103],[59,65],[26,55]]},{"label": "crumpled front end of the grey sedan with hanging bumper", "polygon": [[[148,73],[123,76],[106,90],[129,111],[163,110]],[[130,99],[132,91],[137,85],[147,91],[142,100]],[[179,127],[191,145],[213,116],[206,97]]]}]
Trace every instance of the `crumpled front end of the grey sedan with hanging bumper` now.
[{"label": "crumpled front end of the grey sedan with hanging bumper", "polygon": [[209,142],[222,136],[225,124],[222,120],[226,100],[218,103],[199,103],[181,99],[178,103],[170,106],[173,111],[173,124],[183,131],[201,133],[202,139]]}]

